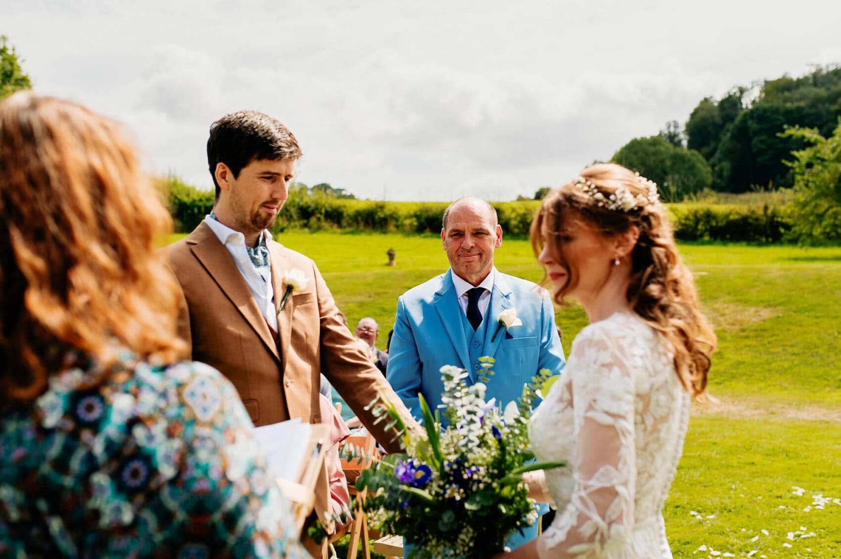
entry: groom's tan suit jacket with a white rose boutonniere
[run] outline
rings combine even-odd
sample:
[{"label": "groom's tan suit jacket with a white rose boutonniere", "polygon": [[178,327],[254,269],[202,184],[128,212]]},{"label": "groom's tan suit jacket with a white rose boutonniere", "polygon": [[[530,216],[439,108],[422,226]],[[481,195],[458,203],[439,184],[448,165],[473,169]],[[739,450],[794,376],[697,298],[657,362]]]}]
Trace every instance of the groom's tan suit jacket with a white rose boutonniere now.
[{"label": "groom's tan suit jacket with a white rose boutonniere", "polygon": [[[375,418],[364,408],[382,394],[408,421],[410,414],[342,324],[314,261],[268,242],[276,310],[286,289],[283,272],[298,268],[309,277],[307,287],[290,295],[278,313],[275,337],[230,253],[207,224],[202,222],[187,238],[163,250],[183,293],[179,335],[191,345],[194,361],[209,364],[234,383],[254,425],[293,418],[320,423],[323,372],[378,442],[399,451],[394,433],[383,430],[389,422],[374,425]],[[315,512],[325,525],[329,509],[322,472]]]}]

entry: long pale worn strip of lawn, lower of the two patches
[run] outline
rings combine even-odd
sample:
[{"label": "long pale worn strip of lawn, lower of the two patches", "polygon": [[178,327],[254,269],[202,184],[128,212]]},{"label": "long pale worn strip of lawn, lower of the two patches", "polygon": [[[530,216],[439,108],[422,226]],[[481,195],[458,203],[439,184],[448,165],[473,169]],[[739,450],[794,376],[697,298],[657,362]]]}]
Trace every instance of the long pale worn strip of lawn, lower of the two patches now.
[{"label": "long pale worn strip of lawn, lower of the two patches", "polygon": [[794,419],[841,424],[841,409],[801,403],[769,403],[754,398],[718,398],[718,403],[692,404],[694,415],[719,415],[747,419]]}]

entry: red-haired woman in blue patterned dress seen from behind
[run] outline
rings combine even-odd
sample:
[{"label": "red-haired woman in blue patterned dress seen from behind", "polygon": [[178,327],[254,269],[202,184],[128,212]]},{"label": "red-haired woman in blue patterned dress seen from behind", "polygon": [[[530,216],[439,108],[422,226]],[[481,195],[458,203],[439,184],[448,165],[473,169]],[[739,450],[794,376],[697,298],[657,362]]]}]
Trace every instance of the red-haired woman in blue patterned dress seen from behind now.
[{"label": "red-haired woman in blue patterned dress seen from behind", "polygon": [[178,362],[171,228],[118,124],[0,103],[0,556],[303,557],[233,386]]}]

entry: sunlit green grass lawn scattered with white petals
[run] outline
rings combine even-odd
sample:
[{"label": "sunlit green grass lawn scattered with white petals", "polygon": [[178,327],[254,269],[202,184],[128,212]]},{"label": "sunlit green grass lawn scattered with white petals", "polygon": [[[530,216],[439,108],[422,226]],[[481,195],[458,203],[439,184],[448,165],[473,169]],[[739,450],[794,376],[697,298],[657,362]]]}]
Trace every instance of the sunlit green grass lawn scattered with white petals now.
[{"label": "sunlit green grass lawn scattered with white petals", "polygon": [[[378,320],[383,349],[399,294],[447,268],[436,235],[288,232],[278,241],[316,261],[352,326]],[[397,266],[386,266],[389,247]],[[709,390],[721,403],[694,410],[664,511],[674,556],[841,557],[841,247],[681,253],[719,336]],[[542,277],[525,240],[504,240],[495,261]],[[586,318],[576,306],[557,318],[569,351]],[[814,495],[829,500],[818,508]]]}]

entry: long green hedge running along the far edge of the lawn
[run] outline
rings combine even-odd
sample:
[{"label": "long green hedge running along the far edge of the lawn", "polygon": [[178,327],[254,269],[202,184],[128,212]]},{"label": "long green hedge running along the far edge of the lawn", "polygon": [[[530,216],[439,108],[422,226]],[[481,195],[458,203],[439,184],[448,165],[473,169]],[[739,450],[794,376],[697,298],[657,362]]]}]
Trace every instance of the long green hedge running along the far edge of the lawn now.
[{"label": "long green hedge running along the far edge of the lawn", "polygon": [[[159,182],[169,199],[176,228],[192,231],[213,208],[214,193],[200,191],[170,177]],[[540,202],[493,203],[505,235],[524,238]],[[272,227],[286,229],[360,229],[383,233],[437,233],[446,203],[378,202],[331,198],[321,192],[293,187]],[[787,206],[764,204],[679,203],[669,205],[674,236],[679,240],[724,240],[776,243],[790,240]]]}]

